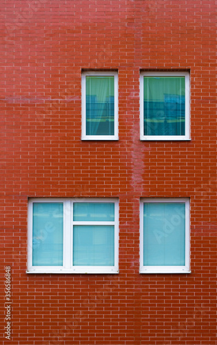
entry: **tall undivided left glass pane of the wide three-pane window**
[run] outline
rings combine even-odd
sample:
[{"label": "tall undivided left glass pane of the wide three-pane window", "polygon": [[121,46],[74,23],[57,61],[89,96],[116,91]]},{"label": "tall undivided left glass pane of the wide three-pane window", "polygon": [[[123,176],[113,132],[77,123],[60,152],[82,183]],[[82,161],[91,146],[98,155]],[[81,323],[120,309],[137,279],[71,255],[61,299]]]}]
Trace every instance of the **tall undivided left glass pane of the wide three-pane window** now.
[{"label": "tall undivided left glass pane of the wide three-pane window", "polygon": [[63,204],[34,203],[33,266],[63,265]]}]

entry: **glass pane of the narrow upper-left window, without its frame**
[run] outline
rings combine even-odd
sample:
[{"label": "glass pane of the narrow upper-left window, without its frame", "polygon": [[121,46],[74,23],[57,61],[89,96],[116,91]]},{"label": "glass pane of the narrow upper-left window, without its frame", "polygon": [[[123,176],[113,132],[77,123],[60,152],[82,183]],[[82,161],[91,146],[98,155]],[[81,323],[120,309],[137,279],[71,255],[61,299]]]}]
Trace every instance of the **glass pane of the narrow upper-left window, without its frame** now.
[{"label": "glass pane of the narrow upper-left window, without its frame", "polygon": [[114,135],[114,77],[86,77],[86,134]]}]

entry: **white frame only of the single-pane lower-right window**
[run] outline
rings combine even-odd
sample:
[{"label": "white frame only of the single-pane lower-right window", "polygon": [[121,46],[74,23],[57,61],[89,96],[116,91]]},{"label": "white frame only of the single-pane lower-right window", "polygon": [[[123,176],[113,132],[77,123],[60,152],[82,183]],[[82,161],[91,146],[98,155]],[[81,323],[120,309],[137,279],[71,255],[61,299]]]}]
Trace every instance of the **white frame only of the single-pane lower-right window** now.
[{"label": "white frame only of the single-pane lower-right window", "polygon": [[[185,266],[144,266],[143,265],[143,205],[145,203],[185,204]],[[145,198],[140,204],[140,273],[191,273],[190,270],[190,203],[188,198]],[[167,235],[167,234],[165,234]]]}]

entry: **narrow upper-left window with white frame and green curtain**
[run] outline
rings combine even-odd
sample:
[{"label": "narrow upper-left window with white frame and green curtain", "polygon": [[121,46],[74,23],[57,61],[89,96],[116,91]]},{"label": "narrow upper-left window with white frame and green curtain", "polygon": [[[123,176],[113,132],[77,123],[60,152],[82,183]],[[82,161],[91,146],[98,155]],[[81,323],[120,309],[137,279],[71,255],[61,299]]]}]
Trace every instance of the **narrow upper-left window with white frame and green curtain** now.
[{"label": "narrow upper-left window with white frame and green curtain", "polygon": [[82,75],[82,139],[118,139],[118,74]]}]

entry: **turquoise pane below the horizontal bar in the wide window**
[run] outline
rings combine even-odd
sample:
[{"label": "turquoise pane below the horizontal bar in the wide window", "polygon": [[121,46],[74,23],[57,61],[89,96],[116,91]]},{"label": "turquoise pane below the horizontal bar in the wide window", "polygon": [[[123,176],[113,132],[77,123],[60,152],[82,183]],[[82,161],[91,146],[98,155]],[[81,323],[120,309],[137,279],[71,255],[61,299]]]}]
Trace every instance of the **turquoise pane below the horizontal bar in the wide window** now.
[{"label": "turquoise pane below the horizontal bar in the wide window", "polygon": [[114,266],[114,226],[74,226],[73,264]]}]

